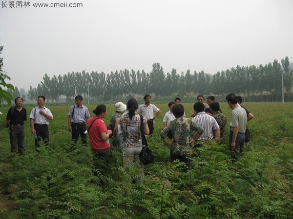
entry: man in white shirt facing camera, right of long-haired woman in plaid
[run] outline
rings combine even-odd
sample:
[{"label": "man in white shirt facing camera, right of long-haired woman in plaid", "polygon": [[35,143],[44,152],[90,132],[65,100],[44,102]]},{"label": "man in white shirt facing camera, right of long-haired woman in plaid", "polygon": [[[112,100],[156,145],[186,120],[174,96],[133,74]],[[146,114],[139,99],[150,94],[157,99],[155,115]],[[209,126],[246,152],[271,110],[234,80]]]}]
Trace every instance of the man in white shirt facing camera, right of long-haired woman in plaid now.
[{"label": "man in white shirt facing camera, right of long-haired woman in plaid", "polygon": [[[151,96],[149,94],[144,96],[145,103],[138,107],[137,113],[141,112],[146,117],[149,134],[151,135],[154,132],[154,121],[160,115],[161,110],[151,104],[150,99]],[[154,112],[156,112],[156,115],[154,115]]]}]

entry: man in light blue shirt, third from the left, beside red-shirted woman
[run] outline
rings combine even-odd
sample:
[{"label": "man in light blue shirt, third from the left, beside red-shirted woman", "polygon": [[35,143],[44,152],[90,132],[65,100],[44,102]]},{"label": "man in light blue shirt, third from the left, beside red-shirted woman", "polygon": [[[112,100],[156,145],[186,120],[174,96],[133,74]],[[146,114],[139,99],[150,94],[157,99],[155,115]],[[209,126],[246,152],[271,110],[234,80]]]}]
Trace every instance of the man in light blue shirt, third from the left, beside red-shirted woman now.
[{"label": "man in light blue shirt, third from the left, beside red-shirted woman", "polygon": [[68,112],[68,130],[71,132],[71,141],[74,142],[71,145],[71,149],[76,145],[79,135],[81,136],[82,143],[86,144],[86,123],[90,114],[87,107],[83,105],[83,100],[82,95],[77,95],[75,97],[76,105],[70,107]]}]

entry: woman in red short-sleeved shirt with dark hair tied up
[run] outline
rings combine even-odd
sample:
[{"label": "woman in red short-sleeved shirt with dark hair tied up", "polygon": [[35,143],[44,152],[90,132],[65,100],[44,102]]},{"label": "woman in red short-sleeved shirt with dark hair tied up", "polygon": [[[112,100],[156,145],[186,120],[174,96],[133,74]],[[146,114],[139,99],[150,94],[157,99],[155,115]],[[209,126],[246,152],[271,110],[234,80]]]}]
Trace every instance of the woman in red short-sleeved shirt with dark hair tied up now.
[{"label": "woman in red short-sleeved shirt with dark hair tied up", "polygon": [[93,151],[94,163],[102,158],[104,162],[109,161],[110,157],[110,143],[109,136],[112,134],[111,130],[108,130],[103,118],[107,114],[107,109],[104,104],[98,105],[93,113],[96,115],[90,118],[87,122],[87,131],[90,140],[90,147]]}]

